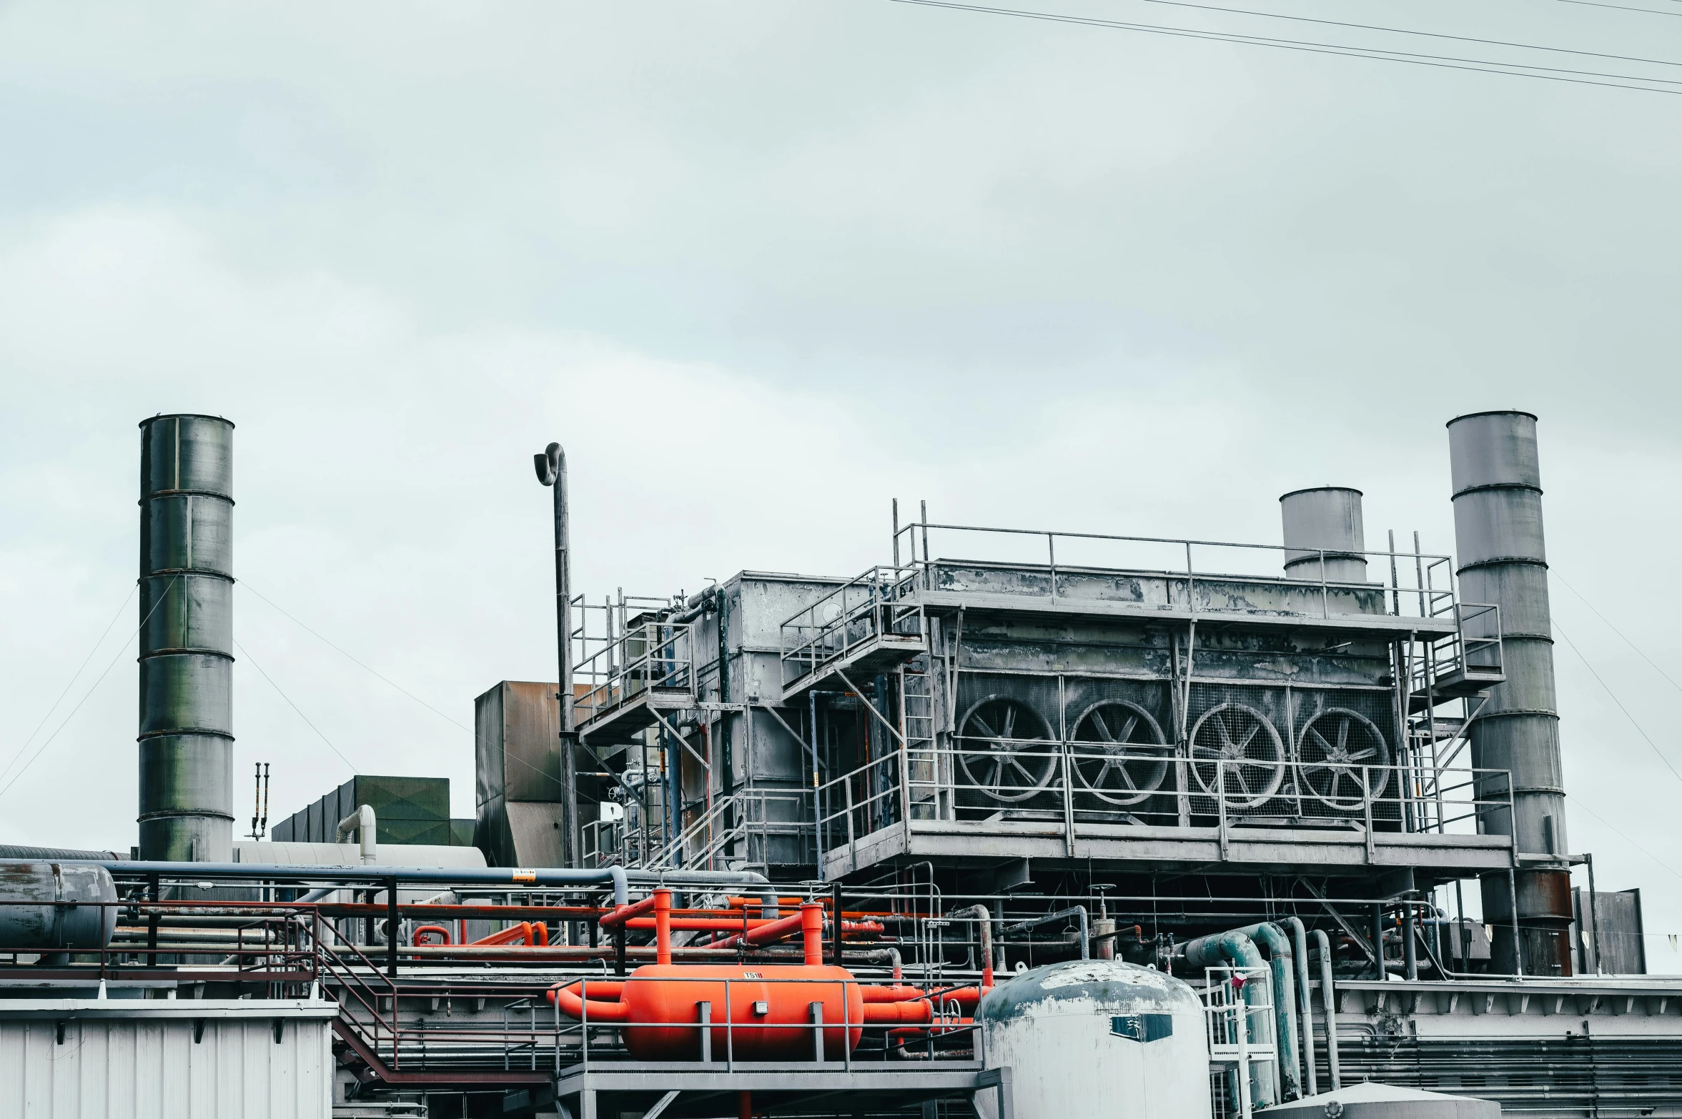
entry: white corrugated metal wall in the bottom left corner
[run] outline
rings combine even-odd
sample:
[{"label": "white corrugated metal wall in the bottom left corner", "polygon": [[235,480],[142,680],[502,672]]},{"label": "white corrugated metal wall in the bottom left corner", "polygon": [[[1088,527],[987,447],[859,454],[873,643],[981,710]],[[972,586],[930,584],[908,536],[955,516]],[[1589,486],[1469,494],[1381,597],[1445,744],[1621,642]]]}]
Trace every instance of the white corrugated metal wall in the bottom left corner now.
[{"label": "white corrugated metal wall in the bottom left corner", "polygon": [[279,1042],[272,1018],[202,1022],[193,1042],[190,1017],[0,1018],[0,1116],[331,1117],[330,1018],[279,1018]]}]

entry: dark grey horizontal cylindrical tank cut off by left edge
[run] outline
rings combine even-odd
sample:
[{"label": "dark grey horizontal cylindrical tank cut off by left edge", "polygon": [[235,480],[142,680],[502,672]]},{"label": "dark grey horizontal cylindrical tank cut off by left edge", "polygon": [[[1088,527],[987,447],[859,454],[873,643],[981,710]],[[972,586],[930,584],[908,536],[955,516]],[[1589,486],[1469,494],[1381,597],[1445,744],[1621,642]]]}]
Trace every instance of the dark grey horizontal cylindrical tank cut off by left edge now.
[{"label": "dark grey horizontal cylindrical tank cut off by left edge", "polygon": [[[0,951],[99,949],[116,932],[116,884],[104,867],[0,864]],[[25,902],[25,904],[17,904]]]}]

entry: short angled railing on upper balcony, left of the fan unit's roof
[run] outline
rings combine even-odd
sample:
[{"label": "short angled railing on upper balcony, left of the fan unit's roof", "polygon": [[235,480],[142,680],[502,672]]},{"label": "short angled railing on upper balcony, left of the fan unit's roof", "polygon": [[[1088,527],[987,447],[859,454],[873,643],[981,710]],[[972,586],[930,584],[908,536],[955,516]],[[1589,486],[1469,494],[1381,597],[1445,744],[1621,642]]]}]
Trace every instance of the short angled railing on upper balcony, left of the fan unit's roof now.
[{"label": "short angled railing on upper balcony, left of the fan unit's roof", "polygon": [[870,568],[782,623],[782,684],[816,677],[883,638],[922,638],[912,573]]}]

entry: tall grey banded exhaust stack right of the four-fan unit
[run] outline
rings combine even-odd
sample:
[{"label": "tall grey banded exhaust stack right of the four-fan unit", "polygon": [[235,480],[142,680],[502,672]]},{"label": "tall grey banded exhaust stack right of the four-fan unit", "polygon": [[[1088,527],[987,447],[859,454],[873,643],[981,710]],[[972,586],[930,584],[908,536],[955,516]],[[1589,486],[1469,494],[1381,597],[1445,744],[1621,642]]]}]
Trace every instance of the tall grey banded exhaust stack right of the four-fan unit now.
[{"label": "tall grey banded exhaust stack right of the four-fan unit", "polygon": [[[1563,857],[1564,780],[1554,699],[1554,642],[1547,610],[1547,553],[1542,546],[1542,477],[1536,417],[1529,412],[1477,412],[1448,422],[1453,474],[1455,551],[1460,602],[1500,607],[1500,659],[1505,682],[1472,722],[1472,764],[1512,773],[1512,818],[1494,813],[1485,830],[1510,835],[1517,854]],[[1470,635],[1489,635],[1468,623]],[[1487,655],[1494,655],[1490,650]],[[1480,796],[1499,796],[1487,788]],[[1505,875],[1484,879],[1484,919],[1495,927],[1494,971],[1571,975],[1571,875],[1558,864],[1517,872],[1517,924]]]}]

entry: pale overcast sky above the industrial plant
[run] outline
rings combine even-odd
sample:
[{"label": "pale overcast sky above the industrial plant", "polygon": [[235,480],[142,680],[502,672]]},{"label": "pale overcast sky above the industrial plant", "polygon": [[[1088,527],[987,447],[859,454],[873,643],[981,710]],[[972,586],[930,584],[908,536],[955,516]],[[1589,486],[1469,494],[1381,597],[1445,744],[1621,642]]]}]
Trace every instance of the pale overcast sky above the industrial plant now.
[{"label": "pale overcast sky above the industrial plant", "polygon": [[[1682,64],[1672,0],[1251,7]],[[1344,484],[1369,546],[1450,551],[1443,422],[1519,407],[1571,847],[1679,931],[1679,129],[1674,94],[888,0],[0,3],[0,842],[135,842],[156,412],[239,425],[235,808],[271,761],[278,818],[352,764],[473,815],[473,697],[553,677],[548,440],[577,586],[668,595],[886,561],[891,497],[1275,543],[1278,494]]]}]

